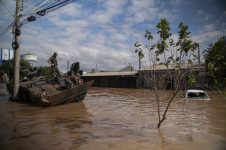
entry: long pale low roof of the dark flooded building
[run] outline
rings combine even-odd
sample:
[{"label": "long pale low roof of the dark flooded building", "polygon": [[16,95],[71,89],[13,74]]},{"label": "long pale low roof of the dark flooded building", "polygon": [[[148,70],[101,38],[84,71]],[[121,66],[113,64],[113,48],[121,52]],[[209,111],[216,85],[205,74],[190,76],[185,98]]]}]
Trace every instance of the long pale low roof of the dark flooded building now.
[{"label": "long pale low roof of the dark flooded building", "polygon": [[137,71],[122,71],[122,72],[94,72],[94,73],[87,73],[83,74],[82,76],[133,76],[136,75]]}]

